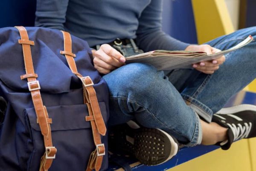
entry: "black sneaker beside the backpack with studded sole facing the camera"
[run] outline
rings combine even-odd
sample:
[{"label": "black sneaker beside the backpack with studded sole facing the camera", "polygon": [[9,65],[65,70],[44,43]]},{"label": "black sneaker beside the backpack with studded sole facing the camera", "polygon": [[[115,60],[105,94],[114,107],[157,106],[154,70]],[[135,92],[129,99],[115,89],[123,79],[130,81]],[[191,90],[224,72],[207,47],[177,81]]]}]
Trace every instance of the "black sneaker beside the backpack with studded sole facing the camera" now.
[{"label": "black sneaker beside the backpack with studded sole facing the camera", "polygon": [[114,142],[115,148],[119,146],[122,150],[130,152],[144,165],[165,163],[179,150],[179,143],[175,137],[161,129],[140,127],[134,121],[122,124],[118,128],[119,133],[113,135],[109,146],[113,147],[111,143]]}]

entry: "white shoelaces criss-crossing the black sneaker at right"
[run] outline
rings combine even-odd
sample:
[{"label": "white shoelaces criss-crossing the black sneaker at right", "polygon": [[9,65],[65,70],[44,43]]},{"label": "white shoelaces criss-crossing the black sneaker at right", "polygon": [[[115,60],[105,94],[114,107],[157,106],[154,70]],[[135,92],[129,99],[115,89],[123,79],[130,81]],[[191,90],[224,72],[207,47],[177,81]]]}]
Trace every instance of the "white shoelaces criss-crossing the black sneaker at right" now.
[{"label": "white shoelaces criss-crossing the black sneaker at right", "polygon": [[234,123],[227,123],[234,134],[234,141],[248,137],[250,130],[252,129],[252,123],[244,123],[242,126],[240,123],[235,125]]}]

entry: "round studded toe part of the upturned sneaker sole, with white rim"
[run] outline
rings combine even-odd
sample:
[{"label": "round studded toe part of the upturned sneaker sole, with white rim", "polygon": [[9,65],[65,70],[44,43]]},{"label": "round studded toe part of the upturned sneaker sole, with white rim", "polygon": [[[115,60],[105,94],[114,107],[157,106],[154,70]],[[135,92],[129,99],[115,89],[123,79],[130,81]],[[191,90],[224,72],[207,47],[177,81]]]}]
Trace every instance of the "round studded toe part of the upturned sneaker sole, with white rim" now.
[{"label": "round studded toe part of the upturned sneaker sole, with white rim", "polygon": [[178,142],[161,129],[141,128],[134,137],[134,155],[145,165],[160,165],[177,154]]}]

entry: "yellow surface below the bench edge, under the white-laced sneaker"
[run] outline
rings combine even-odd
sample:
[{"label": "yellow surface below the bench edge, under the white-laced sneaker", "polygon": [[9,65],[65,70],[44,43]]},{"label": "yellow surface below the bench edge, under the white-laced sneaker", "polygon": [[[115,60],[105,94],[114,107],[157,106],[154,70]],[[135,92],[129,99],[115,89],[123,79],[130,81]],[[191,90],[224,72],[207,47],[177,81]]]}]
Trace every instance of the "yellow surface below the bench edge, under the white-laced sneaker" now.
[{"label": "yellow surface below the bench edge, under the white-laced sneaker", "polygon": [[256,165],[252,170],[250,151],[248,140],[239,140],[229,150],[217,149],[168,171],[256,171]]}]

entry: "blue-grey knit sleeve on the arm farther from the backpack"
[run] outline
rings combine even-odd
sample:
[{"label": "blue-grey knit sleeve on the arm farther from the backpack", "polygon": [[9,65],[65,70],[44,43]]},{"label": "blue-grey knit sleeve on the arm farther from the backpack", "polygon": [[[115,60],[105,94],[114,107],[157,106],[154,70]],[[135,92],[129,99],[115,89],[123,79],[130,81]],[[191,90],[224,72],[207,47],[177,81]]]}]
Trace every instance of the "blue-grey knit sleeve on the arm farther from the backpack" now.
[{"label": "blue-grey knit sleeve on the arm farther from the backpack", "polygon": [[151,0],[139,18],[137,45],[142,50],[184,50],[188,43],[181,42],[162,31],[162,0]]}]

